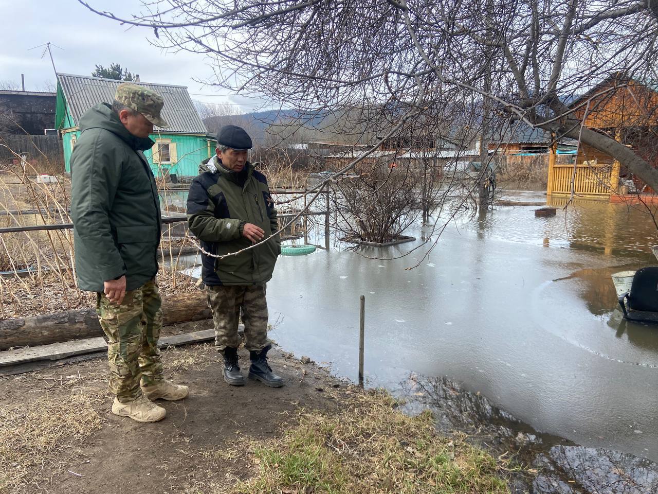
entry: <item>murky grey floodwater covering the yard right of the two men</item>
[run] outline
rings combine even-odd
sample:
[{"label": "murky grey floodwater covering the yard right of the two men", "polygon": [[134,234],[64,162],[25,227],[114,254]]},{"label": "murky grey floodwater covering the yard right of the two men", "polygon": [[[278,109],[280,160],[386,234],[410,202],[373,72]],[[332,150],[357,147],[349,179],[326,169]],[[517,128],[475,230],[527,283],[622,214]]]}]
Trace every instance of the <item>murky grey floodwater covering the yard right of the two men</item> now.
[{"label": "murky grey floodwater covering the yard right of the two men", "polygon": [[543,433],[658,461],[658,324],[622,321],[610,278],[658,264],[657,229],[606,202],[550,218],[534,209],[456,219],[424,260],[432,229],[420,222],[415,242],[281,257],[271,337],[356,380],[363,294],[368,385],[445,376]]}]

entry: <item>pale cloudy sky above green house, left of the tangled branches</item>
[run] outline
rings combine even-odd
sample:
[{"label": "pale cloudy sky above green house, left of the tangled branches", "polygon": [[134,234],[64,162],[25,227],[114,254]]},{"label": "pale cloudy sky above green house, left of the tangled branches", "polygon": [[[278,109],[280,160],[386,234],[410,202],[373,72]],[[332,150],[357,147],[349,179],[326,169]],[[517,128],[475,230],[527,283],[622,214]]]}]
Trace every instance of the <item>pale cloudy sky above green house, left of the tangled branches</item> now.
[{"label": "pale cloudy sky above green house, left of the tangled branches", "polygon": [[[139,11],[139,0],[88,0],[99,10],[130,17]],[[213,90],[195,82],[212,75],[203,55],[164,53],[147,40],[152,32],[126,28],[118,22],[91,13],[77,0],[0,0],[3,40],[0,43],[0,81],[20,84],[25,74],[26,90],[44,90],[45,82],[55,83],[49,56],[41,58],[43,47],[51,42],[58,72],[91,75],[96,64],[109,67],[120,63],[139,74],[141,82],[188,86],[192,99],[208,103],[234,103],[244,111],[260,109],[251,101]],[[61,48],[61,49],[60,49]]]}]

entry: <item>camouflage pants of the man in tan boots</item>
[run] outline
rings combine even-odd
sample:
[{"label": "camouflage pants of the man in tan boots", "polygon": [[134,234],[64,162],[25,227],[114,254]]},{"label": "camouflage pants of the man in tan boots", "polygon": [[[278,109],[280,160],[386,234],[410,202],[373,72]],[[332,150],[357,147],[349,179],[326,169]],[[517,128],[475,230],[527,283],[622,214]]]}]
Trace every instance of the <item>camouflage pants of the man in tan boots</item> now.
[{"label": "camouflage pants of the man in tan boots", "polygon": [[97,294],[96,313],[107,339],[109,388],[120,402],[141,395],[141,384],[163,379],[158,339],[163,325],[162,299],[155,281],[126,292],[121,305]]}]

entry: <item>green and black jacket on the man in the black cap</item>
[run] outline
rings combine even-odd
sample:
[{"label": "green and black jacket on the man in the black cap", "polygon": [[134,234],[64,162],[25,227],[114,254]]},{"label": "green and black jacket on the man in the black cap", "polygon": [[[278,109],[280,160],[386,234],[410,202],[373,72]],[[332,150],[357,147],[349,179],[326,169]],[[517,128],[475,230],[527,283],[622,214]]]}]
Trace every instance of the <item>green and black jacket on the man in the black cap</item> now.
[{"label": "green and black jacket on the man in the black cap", "polygon": [[[218,260],[201,255],[201,276],[206,285],[263,285],[272,278],[281,253],[276,209],[265,175],[247,163],[241,173],[224,167],[215,158],[192,180],[188,194],[188,226],[201,246],[222,256],[251,245],[242,236],[240,225],[253,223],[274,236],[259,246],[236,256]],[[243,184],[241,185],[241,182]]]}]

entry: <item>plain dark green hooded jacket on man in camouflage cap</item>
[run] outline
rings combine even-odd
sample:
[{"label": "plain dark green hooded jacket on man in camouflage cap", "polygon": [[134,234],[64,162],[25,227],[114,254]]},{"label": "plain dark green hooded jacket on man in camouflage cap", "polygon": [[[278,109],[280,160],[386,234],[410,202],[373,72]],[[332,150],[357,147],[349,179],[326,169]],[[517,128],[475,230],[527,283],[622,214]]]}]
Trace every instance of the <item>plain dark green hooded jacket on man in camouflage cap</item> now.
[{"label": "plain dark green hooded jacket on man in camouflage cap", "polygon": [[71,155],[71,217],[76,274],[82,290],[126,275],[134,290],[158,271],[160,201],[142,151],[154,142],[130,134],[107,103],[80,119]]}]

